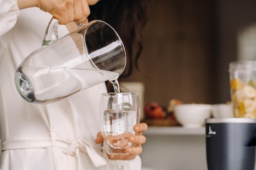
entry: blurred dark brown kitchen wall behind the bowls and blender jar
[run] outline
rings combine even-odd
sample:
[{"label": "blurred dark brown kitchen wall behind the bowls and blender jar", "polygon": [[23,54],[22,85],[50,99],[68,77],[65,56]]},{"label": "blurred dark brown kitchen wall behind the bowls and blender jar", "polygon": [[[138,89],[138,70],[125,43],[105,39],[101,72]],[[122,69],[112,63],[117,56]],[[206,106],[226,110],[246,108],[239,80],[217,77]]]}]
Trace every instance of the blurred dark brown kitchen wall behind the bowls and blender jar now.
[{"label": "blurred dark brown kitchen wall behind the bowls and blender jar", "polygon": [[230,101],[229,62],[255,57],[255,9],[255,0],[151,0],[140,71],[121,82],[142,82],[144,102],[162,106]]}]

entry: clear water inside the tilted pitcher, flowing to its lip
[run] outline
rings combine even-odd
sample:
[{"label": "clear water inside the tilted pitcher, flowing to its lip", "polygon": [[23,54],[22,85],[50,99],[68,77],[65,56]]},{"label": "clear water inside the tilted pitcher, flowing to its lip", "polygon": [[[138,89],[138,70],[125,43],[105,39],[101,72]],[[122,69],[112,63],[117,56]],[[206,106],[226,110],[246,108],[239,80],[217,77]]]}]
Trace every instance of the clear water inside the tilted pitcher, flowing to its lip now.
[{"label": "clear water inside the tilted pitcher, flowing to its lip", "polygon": [[28,102],[47,104],[107,80],[119,91],[118,77],[118,73],[99,69],[20,66],[15,83]]}]

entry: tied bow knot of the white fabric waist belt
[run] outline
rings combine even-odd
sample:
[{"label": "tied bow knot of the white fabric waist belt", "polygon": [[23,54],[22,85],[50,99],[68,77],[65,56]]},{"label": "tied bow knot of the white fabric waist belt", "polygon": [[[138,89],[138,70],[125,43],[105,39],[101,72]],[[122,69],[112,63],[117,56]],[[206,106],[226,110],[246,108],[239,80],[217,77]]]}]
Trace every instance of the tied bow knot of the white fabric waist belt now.
[{"label": "tied bow knot of the white fabric waist belt", "polygon": [[65,148],[63,152],[70,156],[76,156],[78,170],[81,170],[81,161],[79,156],[80,151],[89,155],[92,163],[96,168],[107,165],[107,161],[101,157],[87,141],[83,139],[77,139],[71,141],[70,146]]}]

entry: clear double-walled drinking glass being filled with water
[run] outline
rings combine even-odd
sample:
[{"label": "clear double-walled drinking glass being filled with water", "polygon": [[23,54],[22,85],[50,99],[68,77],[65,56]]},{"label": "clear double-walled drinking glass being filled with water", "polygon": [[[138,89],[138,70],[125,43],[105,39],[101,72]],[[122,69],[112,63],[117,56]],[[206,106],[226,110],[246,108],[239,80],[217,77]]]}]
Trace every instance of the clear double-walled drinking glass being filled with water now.
[{"label": "clear double-walled drinking glass being filled with water", "polygon": [[139,95],[136,93],[101,94],[101,127],[104,146],[108,154],[126,154],[128,146],[135,146],[127,140],[135,135],[133,126],[139,123]]}]

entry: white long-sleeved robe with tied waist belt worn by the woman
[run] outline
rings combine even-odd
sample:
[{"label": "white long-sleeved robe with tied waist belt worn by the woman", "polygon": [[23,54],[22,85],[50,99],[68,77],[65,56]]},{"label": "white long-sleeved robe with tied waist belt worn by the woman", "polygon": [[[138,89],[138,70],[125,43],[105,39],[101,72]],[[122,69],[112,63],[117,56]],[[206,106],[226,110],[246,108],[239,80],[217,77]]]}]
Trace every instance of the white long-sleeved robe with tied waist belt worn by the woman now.
[{"label": "white long-sleeved robe with tied waist belt worn by the woman", "polygon": [[[52,104],[32,104],[14,83],[20,62],[40,48],[52,16],[0,0],[0,170],[140,170],[141,159],[110,160],[101,144],[101,83]],[[59,37],[67,34],[58,27]]]}]

